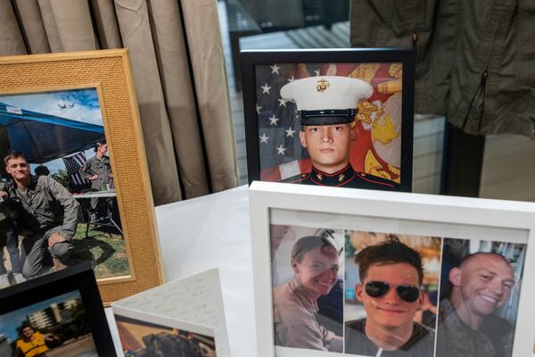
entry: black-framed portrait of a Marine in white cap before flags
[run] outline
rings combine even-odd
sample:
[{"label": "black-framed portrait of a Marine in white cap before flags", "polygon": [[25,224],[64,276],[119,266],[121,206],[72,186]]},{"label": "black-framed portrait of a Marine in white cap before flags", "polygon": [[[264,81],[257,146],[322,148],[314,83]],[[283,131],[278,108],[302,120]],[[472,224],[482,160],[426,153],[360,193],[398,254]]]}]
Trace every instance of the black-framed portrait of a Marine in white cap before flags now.
[{"label": "black-framed portrait of a Marine in white cap before flags", "polygon": [[249,182],[411,191],[411,49],[243,50]]}]

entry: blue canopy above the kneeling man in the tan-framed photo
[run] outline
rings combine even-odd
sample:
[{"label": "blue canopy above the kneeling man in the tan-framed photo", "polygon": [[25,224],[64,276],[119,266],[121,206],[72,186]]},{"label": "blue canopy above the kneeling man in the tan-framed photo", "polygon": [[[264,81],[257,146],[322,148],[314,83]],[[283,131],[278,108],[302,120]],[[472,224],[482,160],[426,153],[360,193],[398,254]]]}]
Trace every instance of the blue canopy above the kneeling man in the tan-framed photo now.
[{"label": "blue canopy above the kneeling man in the tan-framed photo", "polygon": [[104,140],[102,125],[26,111],[0,103],[0,126],[9,147],[30,163],[49,162],[93,147]]}]

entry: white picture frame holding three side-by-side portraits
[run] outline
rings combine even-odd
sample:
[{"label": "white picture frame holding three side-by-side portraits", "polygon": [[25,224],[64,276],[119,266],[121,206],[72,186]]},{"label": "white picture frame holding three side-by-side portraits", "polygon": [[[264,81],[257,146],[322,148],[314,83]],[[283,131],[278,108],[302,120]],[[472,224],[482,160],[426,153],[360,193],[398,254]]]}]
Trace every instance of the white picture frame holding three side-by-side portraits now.
[{"label": "white picture frame holding three side-by-side portraits", "polygon": [[266,181],[249,199],[259,357],[531,353],[535,203]]}]

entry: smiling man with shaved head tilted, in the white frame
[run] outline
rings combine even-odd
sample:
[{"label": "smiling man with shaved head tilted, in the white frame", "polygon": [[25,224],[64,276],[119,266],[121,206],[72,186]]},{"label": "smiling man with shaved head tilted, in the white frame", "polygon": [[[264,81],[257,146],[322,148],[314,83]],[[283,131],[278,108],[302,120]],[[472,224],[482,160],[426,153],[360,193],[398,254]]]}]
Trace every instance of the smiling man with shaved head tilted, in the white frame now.
[{"label": "smiling man with shaved head tilted, in the white frame", "polygon": [[494,312],[514,288],[513,268],[497,253],[467,255],[449,270],[451,292],[440,301],[437,357],[511,357],[514,328]]}]

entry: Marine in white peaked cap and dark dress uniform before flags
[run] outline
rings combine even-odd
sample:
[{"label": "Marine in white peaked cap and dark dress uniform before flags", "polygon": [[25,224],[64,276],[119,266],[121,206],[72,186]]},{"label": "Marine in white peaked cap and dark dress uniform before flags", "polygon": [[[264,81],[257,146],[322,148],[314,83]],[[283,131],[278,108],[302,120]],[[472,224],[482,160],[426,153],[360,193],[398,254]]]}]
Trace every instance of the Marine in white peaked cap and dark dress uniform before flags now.
[{"label": "Marine in white peaked cap and dark dress uniform before flags", "polygon": [[355,171],[350,145],[355,140],[351,124],[358,103],[374,92],[364,80],[340,76],[297,79],[281,88],[281,96],[293,100],[300,114],[300,143],[306,147],[312,170],[282,182],[331,187],[395,190],[388,179]]}]

